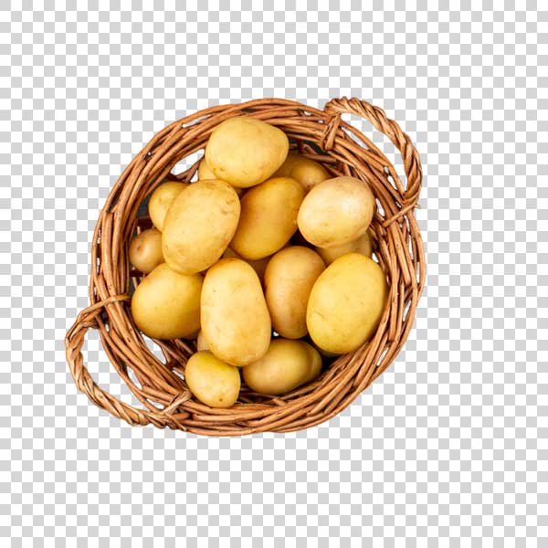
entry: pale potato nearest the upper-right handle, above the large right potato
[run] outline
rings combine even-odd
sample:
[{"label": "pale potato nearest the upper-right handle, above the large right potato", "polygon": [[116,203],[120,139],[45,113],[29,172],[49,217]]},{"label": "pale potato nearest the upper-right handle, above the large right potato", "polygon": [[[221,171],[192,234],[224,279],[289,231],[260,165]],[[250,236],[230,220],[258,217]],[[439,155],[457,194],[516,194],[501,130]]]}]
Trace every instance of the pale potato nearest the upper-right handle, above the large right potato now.
[{"label": "pale potato nearest the upper-right handle, above the large right potato", "polygon": [[319,248],[337,248],[362,236],[374,214],[369,185],[354,177],[335,177],[314,186],[299,210],[299,229]]}]

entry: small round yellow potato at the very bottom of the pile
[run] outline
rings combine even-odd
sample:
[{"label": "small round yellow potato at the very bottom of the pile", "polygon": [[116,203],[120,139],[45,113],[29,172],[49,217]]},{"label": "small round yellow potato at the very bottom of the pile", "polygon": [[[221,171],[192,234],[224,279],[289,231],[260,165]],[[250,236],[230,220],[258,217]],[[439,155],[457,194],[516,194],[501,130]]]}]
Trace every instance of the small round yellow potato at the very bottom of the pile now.
[{"label": "small round yellow potato at the very bottom of the pile", "polygon": [[231,407],[240,389],[239,371],[207,351],[190,356],[184,367],[188,389],[210,407]]}]

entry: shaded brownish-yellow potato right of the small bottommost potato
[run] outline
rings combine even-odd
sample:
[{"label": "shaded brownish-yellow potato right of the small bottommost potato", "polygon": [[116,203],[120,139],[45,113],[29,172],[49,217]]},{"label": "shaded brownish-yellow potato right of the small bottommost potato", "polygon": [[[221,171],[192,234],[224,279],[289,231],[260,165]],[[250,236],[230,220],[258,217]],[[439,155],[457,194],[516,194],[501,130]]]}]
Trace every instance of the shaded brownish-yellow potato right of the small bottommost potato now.
[{"label": "shaded brownish-yellow potato right of the small bottommost potato", "polygon": [[[290,339],[273,339],[269,352],[253,364],[243,368],[246,384],[259,394],[286,394],[311,378],[310,344]],[[315,351],[314,351],[315,352]],[[317,368],[317,359],[314,360]]]}]

